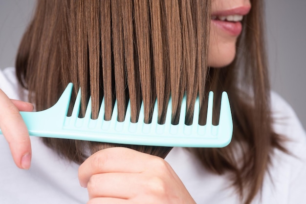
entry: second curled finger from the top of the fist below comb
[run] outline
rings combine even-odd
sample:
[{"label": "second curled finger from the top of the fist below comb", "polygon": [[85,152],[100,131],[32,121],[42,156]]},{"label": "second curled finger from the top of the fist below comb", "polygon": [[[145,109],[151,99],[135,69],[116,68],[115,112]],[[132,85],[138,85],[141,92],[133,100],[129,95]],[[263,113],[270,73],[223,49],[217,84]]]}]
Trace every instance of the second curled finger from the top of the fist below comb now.
[{"label": "second curled finger from the top of the fist below comb", "polygon": [[[172,180],[173,181],[173,180]],[[104,173],[93,175],[87,190],[89,199],[97,197],[137,200],[140,197],[166,197],[171,182],[160,175],[146,173]],[[170,184],[174,187],[174,184]],[[156,199],[155,199],[156,200]],[[162,203],[162,202],[158,202]]]}]

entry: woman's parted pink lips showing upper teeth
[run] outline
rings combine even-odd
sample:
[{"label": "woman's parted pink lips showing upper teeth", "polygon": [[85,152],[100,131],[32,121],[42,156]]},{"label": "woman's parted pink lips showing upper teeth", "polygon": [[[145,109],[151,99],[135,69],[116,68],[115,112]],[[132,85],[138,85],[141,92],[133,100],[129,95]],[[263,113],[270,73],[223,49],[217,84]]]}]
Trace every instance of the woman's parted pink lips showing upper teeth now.
[{"label": "woman's parted pink lips showing upper teeth", "polygon": [[212,13],[212,23],[232,36],[239,36],[242,31],[241,20],[248,14],[250,6],[240,6],[233,9],[216,11]]}]

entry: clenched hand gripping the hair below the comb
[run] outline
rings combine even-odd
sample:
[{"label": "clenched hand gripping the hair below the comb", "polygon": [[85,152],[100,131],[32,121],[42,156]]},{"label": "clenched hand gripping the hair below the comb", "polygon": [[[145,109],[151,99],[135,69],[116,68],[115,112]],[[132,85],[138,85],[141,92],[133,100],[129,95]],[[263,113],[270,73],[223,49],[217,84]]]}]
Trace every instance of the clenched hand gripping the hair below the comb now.
[{"label": "clenched hand gripping the hair below the comb", "polygon": [[91,155],[79,168],[87,204],[195,203],[163,159],[129,148],[113,147]]}]

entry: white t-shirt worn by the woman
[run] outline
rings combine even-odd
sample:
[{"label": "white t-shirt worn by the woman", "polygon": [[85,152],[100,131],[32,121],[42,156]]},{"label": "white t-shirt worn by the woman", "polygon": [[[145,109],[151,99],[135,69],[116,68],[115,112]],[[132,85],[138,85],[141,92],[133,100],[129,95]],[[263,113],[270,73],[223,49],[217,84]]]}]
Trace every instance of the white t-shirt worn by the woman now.
[{"label": "white t-shirt worn by the woman", "polygon": [[[12,99],[26,101],[14,68],[0,70],[0,88]],[[264,179],[262,197],[253,204],[306,203],[306,134],[291,107],[271,94],[274,128],[288,137],[286,148],[294,156],[275,150],[270,177]],[[87,189],[78,181],[78,165],[60,158],[37,137],[31,137],[29,170],[16,167],[8,144],[0,135],[0,204],[85,204]],[[239,196],[226,175],[203,169],[183,148],[174,148],[166,158],[198,204],[239,204]]]}]

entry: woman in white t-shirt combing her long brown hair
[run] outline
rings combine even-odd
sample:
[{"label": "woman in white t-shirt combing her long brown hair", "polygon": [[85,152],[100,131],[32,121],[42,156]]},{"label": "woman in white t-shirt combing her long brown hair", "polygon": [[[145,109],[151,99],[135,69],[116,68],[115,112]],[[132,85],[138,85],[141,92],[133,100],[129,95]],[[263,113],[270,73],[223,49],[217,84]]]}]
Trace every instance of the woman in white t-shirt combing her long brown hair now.
[{"label": "woman in white t-shirt combing her long brown hair", "polygon": [[[1,148],[1,174],[11,176],[1,182],[0,197],[6,203],[84,203],[87,192],[89,203],[303,199],[305,132],[282,99],[272,94],[270,101],[262,9],[261,0],[38,1],[16,71],[0,75],[0,128],[17,166],[28,169],[32,156],[18,110],[33,106],[5,94],[23,101],[29,96],[41,110],[56,102],[68,82],[76,85],[74,94],[79,87],[85,93],[83,114],[92,96],[93,118],[104,97],[105,119],[116,99],[118,121],[124,120],[129,98],[131,122],[138,119],[141,101],[145,122],[150,122],[157,98],[163,123],[171,95],[176,123],[186,94],[185,123],[190,124],[197,94],[204,104],[208,90],[217,96],[225,90],[232,106],[233,140],[220,149],[172,149],[31,138],[29,171],[13,168],[8,148]],[[204,106],[199,123],[204,123]],[[78,181],[87,189],[79,188]],[[18,186],[14,197],[13,186]]]}]

